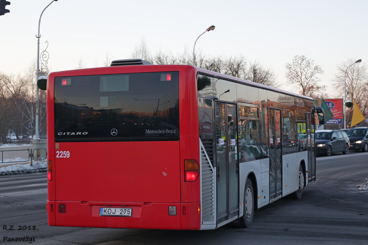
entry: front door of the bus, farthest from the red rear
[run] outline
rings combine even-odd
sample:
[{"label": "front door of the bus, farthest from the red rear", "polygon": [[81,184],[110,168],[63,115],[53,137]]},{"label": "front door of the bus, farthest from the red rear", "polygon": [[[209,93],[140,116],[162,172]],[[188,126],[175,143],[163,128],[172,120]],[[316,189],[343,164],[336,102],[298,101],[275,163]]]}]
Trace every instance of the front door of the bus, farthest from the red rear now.
[{"label": "front door of the bus, farthest from the red rear", "polygon": [[307,113],[308,183],[316,180],[314,114]]}]

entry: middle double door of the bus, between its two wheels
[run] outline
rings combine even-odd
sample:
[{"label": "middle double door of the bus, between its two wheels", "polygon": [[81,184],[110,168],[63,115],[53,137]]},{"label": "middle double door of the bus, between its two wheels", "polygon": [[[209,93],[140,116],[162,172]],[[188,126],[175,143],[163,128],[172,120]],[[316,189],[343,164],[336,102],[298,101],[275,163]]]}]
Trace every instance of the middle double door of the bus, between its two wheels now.
[{"label": "middle double door of the bus, between its two wheels", "polygon": [[281,111],[268,109],[270,200],[282,195]]}]

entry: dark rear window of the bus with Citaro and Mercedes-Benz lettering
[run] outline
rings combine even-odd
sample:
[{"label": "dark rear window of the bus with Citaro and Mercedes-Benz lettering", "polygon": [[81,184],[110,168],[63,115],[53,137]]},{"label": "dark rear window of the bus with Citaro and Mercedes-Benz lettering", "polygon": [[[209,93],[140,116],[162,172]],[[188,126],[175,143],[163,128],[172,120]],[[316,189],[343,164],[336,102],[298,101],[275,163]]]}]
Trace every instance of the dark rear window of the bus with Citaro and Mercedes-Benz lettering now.
[{"label": "dark rear window of the bus with Citaro and Mercedes-Benz lettering", "polygon": [[177,71],[57,77],[55,141],[179,140],[178,101]]}]

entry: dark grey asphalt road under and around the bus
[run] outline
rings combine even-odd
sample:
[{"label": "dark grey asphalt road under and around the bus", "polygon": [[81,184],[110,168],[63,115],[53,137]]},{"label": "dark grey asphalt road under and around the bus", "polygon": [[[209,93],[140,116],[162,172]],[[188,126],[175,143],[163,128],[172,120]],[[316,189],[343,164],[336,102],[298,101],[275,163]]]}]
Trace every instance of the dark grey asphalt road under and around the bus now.
[{"label": "dark grey asphalt road under and around the bus", "polygon": [[367,176],[368,153],[317,157],[317,181],[300,200],[282,198],[259,209],[250,228],[209,231],[50,227],[46,173],[0,176],[0,242],[28,236],[48,245],[368,244],[368,191],[358,188]]}]

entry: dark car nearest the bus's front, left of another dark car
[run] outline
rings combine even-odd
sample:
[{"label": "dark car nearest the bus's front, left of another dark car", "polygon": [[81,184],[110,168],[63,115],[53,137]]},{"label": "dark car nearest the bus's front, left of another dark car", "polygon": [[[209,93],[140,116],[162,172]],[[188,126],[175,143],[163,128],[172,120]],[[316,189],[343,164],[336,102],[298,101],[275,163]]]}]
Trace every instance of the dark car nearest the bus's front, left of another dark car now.
[{"label": "dark car nearest the bus's front, left of another dark car", "polygon": [[349,137],[341,130],[317,130],[316,154],[330,156],[335,152],[347,154],[349,152]]}]

